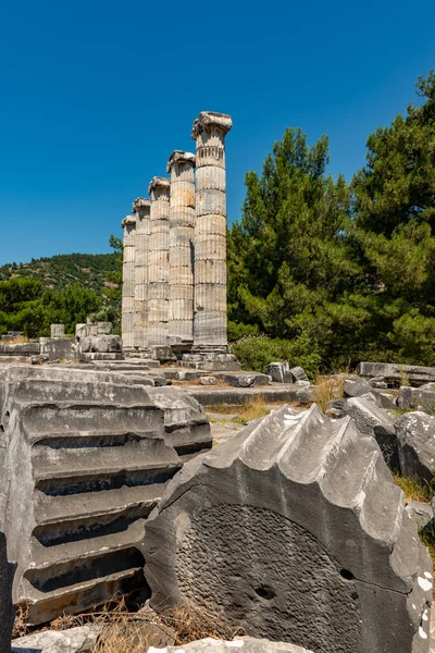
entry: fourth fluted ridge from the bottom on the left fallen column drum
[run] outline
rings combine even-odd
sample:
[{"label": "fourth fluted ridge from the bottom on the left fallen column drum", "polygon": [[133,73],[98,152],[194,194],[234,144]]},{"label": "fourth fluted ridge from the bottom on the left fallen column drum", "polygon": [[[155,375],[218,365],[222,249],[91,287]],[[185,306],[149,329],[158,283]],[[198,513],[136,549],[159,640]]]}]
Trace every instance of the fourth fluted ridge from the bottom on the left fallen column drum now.
[{"label": "fourth fluted ridge from the bottom on the left fallen column drum", "polygon": [[170,459],[167,456],[163,457],[162,454],[167,448],[163,441],[154,441],[158,445],[154,451],[145,446],[144,443],[145,441],[130,446],[102,447],[90,451],[87,448],[34,447],[34,449],[39,449],[37,454],[33,455],[35,482],[74,480],[95,476],[101,478],[134,471],[147,472],[152,479],[161,471],[173,472],[174,469],[179,468],[179,464],[174,457]]}]

